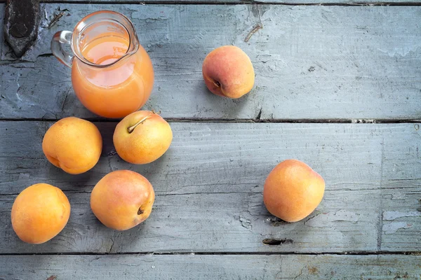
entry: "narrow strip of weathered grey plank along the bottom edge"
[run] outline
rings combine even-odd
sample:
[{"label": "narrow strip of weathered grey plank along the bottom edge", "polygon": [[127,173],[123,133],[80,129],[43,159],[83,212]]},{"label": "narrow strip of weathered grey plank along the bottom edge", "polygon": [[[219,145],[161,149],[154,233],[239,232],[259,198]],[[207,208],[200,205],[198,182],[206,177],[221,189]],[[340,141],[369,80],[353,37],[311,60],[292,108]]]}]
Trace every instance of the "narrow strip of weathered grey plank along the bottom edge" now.
[{"label": "narrow strip of weathered grey plank along the bottom edge", "polygon": [[4,279],[419,279],[420,255],[1,255]]}]

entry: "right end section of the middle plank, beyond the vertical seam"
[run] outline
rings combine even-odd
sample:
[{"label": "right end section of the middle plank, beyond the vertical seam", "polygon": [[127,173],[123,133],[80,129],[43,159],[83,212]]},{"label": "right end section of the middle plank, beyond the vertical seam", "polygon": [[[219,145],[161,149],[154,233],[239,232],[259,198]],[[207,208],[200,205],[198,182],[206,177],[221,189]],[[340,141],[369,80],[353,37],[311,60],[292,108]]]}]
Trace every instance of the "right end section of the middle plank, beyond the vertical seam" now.
[{"label": "right end section of the middle plank, beyond the vertical seam", "polygon": [[[384,144],[381,247],[385,251],[421,246],[421,130],[418,124],[409,126],[414,137],[391,137]],[[399,146],[406,148],[392,148]]]}]

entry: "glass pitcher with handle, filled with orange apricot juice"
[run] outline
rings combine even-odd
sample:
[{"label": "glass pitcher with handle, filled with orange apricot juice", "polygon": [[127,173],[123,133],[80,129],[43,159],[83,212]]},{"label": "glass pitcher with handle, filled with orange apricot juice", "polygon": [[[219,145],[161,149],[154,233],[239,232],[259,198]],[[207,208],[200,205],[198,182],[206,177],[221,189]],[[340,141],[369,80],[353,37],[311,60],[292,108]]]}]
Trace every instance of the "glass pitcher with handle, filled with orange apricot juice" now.
[{"label": "glass pitcher with handle, filled with orange apricot juice", "polygon": [[[70,53],[65,50],[69,45]],[[123,118],[145,105],[152,92],[151,59],[133,23],[120,13],[87,15],[73,32],[57,32],[51,50],[72,68],[72,86],[81,103],[99,116]]]}]

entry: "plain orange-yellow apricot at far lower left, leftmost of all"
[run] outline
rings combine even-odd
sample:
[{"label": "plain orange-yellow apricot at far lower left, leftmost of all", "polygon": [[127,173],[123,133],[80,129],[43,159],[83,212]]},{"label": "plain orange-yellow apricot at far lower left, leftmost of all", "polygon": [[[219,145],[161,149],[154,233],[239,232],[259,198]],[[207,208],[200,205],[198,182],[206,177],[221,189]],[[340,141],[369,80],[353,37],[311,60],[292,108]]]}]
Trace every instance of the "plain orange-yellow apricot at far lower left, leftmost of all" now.
[{"label": "plain orange-yellow apricot at far lower left, leftmost of all", "polygon": [[41,244],[58,235],[70,216],[66,195],[54,186],[37,183],[22,190],[12,207],[12,226],[27,243]]}]

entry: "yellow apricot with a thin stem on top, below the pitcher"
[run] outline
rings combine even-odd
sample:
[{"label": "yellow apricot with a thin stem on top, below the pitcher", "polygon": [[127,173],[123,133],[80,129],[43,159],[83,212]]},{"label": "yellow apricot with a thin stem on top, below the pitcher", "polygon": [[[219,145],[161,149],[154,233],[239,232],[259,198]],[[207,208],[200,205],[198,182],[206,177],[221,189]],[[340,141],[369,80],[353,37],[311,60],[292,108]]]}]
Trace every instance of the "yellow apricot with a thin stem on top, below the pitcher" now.
[{"label": "yellow apricot with a thin stem on top, below the pitcher", "polygon": [[157,160],[168,150],[173,131],[157,113],[137,111],[116,126],[113,141],[123,160],[143,165]]}]

